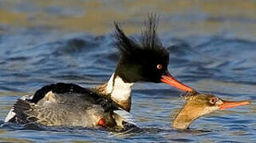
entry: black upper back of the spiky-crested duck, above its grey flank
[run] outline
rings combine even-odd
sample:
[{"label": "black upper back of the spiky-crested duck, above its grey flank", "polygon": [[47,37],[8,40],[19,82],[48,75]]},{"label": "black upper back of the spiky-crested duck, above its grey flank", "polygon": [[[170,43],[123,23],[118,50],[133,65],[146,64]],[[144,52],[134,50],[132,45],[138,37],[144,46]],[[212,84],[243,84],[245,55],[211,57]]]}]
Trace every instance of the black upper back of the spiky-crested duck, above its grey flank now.
[{"label": "black upper back of the spiky-crested duck, above its grey flank", "polygon": [[44,102],[73,104],[80,102],[80,100],[104,106],[104,110],[116,108],[115,102],[112,102],[112,99],[108,98],[108,96],[98,95],[89,88],[73,83],[55,83],[41,87],[41,89],[35,92],[32,99],[28,99],[28,101],[39,105]]}]

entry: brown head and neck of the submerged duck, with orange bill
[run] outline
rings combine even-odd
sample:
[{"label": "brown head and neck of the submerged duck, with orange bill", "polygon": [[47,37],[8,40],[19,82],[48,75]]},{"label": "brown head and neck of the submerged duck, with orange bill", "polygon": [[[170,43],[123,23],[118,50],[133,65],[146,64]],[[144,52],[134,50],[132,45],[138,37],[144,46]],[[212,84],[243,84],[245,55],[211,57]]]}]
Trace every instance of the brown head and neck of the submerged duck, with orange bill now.
[{"label": "brown head and neck of the submerged duck, with orange bill", "polygon": [[175,129],[187,129],[192,122],[205,114],[210,114],[215,110],[224,110],[236,106],[250,104],[250,101],[226,101],[219,99],[215,95],[195,94],[185,97],[187,102],[183,108],[176,114],[172,123]]}]

